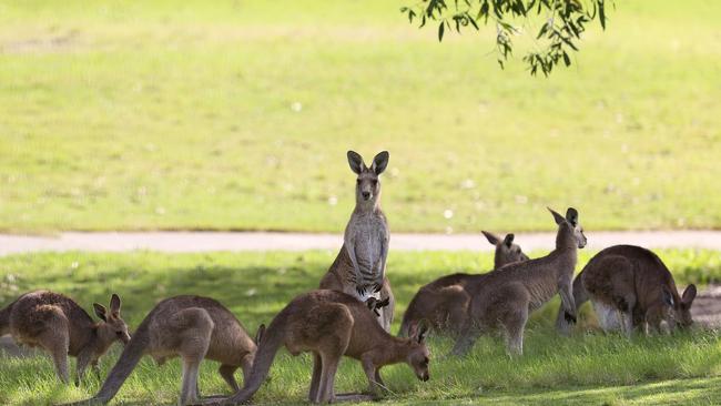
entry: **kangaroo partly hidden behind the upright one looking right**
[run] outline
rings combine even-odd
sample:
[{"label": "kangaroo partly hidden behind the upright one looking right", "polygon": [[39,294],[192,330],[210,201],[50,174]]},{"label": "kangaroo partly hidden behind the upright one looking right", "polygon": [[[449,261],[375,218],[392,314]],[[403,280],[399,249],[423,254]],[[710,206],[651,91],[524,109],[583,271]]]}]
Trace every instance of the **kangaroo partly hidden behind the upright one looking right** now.
[{"label": "kangaroo partly hidden behind the upright one looking right", "polygon": [[[528,260],[520,246],[514,244],[514,234],[500,238],[487,231],[483,233],[488,242],[496,246],[494,270]],[[465,286],[481,276],[483,274],[451,274],[420,287],[403,316],[399,335],[407,335],[410,326],[422,319],[428,321],[429,327],[437,332],[459,333],[466,323],[470,303],[470,295]]]}]

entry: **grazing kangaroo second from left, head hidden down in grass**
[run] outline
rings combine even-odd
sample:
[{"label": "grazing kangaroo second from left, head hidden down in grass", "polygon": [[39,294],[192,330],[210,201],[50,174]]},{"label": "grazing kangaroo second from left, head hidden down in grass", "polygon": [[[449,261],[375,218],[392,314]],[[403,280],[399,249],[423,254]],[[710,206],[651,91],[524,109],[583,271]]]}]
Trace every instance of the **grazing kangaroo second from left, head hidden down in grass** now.
[{"label": "grazing kangaroo second from left, head hidden down in grass", "polygon": [[[260,338],[265,327],[258,329]],[[199,399],[197,376],[203,358],[221,363],[217,372],[234,392],[238,390],[233,374],[241,367],[247,378],[257,349],[241,323],[225,306],[202,296],[174,296],[160,302],[145,318],[120,355],[100,392],[77,404],[110,402],[143,355],[151,355],[158,365],[180,356],[183,378],[180,404]]]}]

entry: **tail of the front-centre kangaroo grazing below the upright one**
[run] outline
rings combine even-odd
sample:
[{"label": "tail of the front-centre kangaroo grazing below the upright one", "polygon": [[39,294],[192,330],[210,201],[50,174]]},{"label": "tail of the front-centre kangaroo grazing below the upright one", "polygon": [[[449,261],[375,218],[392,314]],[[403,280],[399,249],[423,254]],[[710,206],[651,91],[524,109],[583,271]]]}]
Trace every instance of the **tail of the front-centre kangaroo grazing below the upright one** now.
[{"label": "tail of the front-centre kangaroo grazing below the upright one", "polygon": [[255,395],[263,382],[271,371],[271,365],[275,358],[275,354],[284,344],[285,325],[287,323],[288,313],[287,307],[278,313],[271,325],[267,327],[261,342],[258,343],[257,352],[255,353],[255,361],[251,375],[245,379],[243,387],[223,402],[224,405],[237,405],[245,403]]}]

